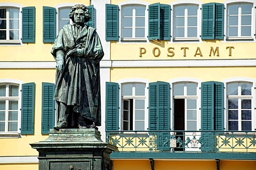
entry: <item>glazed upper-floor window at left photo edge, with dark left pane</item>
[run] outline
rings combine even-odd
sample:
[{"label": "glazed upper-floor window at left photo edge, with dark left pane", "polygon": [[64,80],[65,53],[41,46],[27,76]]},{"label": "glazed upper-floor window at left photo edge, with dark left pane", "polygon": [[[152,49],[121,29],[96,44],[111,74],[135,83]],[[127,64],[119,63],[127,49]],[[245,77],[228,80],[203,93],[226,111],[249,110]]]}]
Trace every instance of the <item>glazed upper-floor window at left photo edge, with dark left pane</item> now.
[{"label": "glazed upper-floor window at left photo edge, with dark left pane", "polygon": [[20,40],[19,8],[0,8],[0,41]]}]

